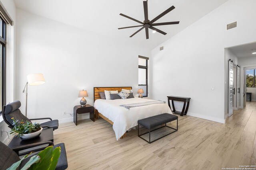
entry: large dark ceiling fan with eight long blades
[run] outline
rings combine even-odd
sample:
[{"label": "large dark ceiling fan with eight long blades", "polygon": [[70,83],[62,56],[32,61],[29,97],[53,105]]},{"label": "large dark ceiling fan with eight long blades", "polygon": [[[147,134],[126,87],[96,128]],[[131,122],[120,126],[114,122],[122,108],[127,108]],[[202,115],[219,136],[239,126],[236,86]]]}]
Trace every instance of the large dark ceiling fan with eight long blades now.
[{"label": "large dark ceiling fan with eight long blades", "polygon": [[170,8],[168,8],[167,10],[165,10],[164,12],[162,12],[160,15],[158,15],[156,18],[154,18],[153,20],[148,20],[148,1],[143,1],[143,6],[144,6],[144,17],[145,20],[143,22],[138,21],[134,18],[131,18],[129,16],[126,16],[124,14],[120,14],[120,16],[124,16],[126,18],[129,18],[130,20],[136,21],[142,25],[136,25],[136,26],[130,26],[130,27],[122,27],[122,28],[118,28],[118,29],[125,29],[125,28],[133,28],[133,27],[142,27],[140,28],[138,31],[136,31],[135,33],[133,33],[130,37],[134,36],[136,33],[140,32],[142,29],[145,28],[146,30],[146,39],[148,39],[148,28],[152,29],[154,31],[157,31],[161,34],[166,35],[167,33],[165,33],[164,31],[161,31],[160,29],[155,28],[154,26],[158,26],[158,25],[172,25],[172,24],[179,24],[180,21],[174,21],[174,22],[162,22],[162,23],[154,23],[155,21],[157,21],[158,19],[160,19],[162,16],[168,14],[169,12],[171,12],[172,10],[174,10],[174,6],[171,6]]}]

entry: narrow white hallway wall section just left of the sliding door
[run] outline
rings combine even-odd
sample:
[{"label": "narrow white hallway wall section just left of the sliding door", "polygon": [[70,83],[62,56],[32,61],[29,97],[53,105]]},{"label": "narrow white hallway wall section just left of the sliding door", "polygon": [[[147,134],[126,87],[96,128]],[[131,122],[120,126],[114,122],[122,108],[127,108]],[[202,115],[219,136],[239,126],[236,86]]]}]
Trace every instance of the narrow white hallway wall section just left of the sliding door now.
[{"label": "narrow white hallway wall section just left of the sliding door", "polygon": [[[225,49],[224,51],[224,56],[225,56],[225,61],[224,61],[224,78],[225,78],[225,87],[224,87],[224,108],[225,108],[225,118],[228,117],[228,60],[231,59],[231,61],[233,61],[233,63],[238,64],[238,57],[236,55],[234,55],[234,53],[232,53],[232,51],[230,51],[230,49]],[[234,95],[234,99],[235,99],[235,95]]]}]

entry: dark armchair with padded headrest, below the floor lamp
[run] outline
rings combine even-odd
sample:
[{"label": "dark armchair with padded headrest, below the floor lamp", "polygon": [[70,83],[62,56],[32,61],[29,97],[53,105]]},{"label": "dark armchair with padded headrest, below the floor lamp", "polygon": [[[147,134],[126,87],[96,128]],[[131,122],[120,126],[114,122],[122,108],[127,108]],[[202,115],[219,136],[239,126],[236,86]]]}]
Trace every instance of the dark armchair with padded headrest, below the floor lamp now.
[{"label": "dark armchair with padded headrest, below the floor lamp", "polygon": [[20,111],[21,103],[20,101],[12,102],[6,106],[3,106],[2,109],[2,115],[4,121],[8,124],[8,127],[11,129],[12,126],[12,117],[19,121],[32,121],[32,120],[42,120],[42,119],[50,119],[50,121],[46,121],[44,123],[41,123],[41,127],[45,128],[53,128],[53,130],[58,129],[59,127],[59,121],[58,120],[52,120],[50,117],[44,117],[44,118],[35,118],[35,119],[28,119],[28,117],[24,116]]}]

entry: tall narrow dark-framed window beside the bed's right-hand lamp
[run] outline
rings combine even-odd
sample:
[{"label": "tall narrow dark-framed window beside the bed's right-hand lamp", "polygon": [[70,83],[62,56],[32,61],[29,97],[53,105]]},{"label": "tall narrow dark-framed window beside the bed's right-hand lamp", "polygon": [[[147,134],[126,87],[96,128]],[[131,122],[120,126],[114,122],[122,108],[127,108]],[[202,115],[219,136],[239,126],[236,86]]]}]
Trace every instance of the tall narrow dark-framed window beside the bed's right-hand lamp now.
[{"label": "tall narrow dark-framed window beside the bed's right-hand lamp", "polygon": [[148,57],[139,56],[138,85],[142,88],[143,97],[148,97]]}]

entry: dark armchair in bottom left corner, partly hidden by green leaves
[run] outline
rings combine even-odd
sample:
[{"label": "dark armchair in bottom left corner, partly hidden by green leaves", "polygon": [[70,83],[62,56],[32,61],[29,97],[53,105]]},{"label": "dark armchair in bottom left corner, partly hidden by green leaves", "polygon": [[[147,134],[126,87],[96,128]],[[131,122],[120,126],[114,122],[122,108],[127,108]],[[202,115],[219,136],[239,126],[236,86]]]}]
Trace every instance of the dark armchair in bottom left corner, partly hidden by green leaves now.
[{"label": "dark armchair in bottom left corner, partly hidden by green leaves", "polygon": [[[64,143],[54,145],[54,148],[60,147],[60,157],[58,159],[58,164],[56,170],[65,170],[68,168],[68,160],[66,155],[66,149]],[[20,160],[19,156],[4,143],[0,142],[0,170],[6,170],[15,162]],[[17,168],[20,170],[27,162],[30,160],[31,156],[28,156],[26,159],[22,160],[20,166]]]}]

